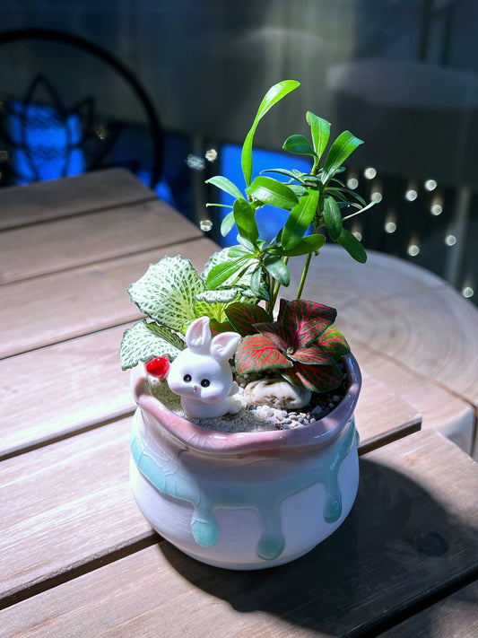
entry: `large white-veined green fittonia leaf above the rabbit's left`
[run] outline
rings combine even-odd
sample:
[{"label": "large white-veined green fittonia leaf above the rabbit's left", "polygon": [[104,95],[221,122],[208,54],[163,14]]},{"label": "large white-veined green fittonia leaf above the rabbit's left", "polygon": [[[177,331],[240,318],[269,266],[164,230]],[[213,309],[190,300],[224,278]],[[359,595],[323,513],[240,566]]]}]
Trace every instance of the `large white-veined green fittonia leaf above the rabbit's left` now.
[{"label": "large white-veined green fittonia leaf above the rabbit's left", "polygon": [[138,308],[158,323],[185,332],[196,319],[193,303],[204,291],[204,283],[189,259],[162,258],[128,290]]}]

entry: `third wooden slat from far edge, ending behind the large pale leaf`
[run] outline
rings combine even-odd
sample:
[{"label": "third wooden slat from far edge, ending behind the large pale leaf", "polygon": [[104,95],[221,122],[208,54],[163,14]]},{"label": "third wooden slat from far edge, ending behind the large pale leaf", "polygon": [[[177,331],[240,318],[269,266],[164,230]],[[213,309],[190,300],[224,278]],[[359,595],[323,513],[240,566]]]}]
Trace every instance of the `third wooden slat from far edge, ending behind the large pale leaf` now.
[{"label": "third wooden slat from far edge, ending behind the large pale leaf", "polygon": [[180,253],[201,270],[214,249],[213,241],[197,239],[3,286],[0,357],[137,319],[139,311],[126,289],[150,263]]}]

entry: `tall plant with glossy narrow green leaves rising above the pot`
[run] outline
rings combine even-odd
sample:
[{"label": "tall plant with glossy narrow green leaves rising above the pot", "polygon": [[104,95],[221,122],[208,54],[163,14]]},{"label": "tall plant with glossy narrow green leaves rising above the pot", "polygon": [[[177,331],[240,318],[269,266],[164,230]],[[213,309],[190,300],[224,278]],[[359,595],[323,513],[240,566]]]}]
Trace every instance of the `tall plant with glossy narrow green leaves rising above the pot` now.
[{"label": "tall plant with glossy narrow green leaves rising above the pot", "polygon": [[[222,235],[227,235],[234,224],[239,234],[238,244],[229,249],[228,258],[209,271],[206,288],[219,289],[225,282],[230,285],[231,277],[236,275],[239,280],[247,272],[250,275],[251,293],[265,300],[266,310],[271,314],[280,287],[290,284],[289,259],[306,255],[296,294],[296,298],[300,299],[311,258],[318,254],[326,242],[325,232],[330,240],[341,244],[352,258],[361,263],[367,259],[361,242],[343,226],[344,221],[372,205],[366,205],[359,195],[337,179],[343,170],[343,162],[362,144],[350,131],[338,135],[326,153],[330,125],[325,119],[308,111],[306,120],[312,143],[304,135],[291,135],[282,148],[289,153],[309,157],[309,173],[278,168],[265,170],[253,179],[252,150],[256,128],[274,104],[299,86],[300,83],[295,80],[285,80],[274,84],[265,94],[242,146],[241,167],[246,183],[244,193],[223,176],[207,180],[207,183],[234,197],[231,211],[222,221]],[[289,178],[289,181],[284,183],[264,173],[280,174]],[[289,212],[284,226],[269,242],[260,238],[256,223],[256,212],[264,205],[273,205]],[[357,210],[347,214],[351,206]]]}]

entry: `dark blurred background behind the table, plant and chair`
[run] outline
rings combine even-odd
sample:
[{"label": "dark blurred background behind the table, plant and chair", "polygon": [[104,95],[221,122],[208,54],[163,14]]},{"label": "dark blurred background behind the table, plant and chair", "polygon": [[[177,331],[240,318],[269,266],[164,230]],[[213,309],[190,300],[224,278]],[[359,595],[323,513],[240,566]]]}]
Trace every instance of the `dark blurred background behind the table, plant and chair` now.
[{"label": "dark blurred background behind the table, plant and chair", "polygon": [[[329,119],[337,135],[352,130],[366,144],[345,177],[357,177],[366,199],[382,197],[352,231],[366,248],[413,259],[467,295],[477,288],[478,3],[0,0],[0,31],[25,27],[89,39],[137,76],[167,134],[170,200],[196,221],[213,218],[203,182],[223,168],[222,144],[243,141],[273,83],[299,80],[300,89],[261,122],[256,144],[278,150],[287,135],[307,135],[306,110]],[[0,49],[0,91],[22,95],[32,55]],[[142,129],[141,109],[117,80],[73,57],[45,56],[69,106],[88,86],[99,109]],[[204,160],[210,148],[219,151],[215,162]],[[375,179],[363,178],[369,166]],[[427,179],[437,188],[428,191]],[[413,202],[405,198],[411,188]],[[430,214],[437,202],[441,214]],[[390,221],[393,233],[385,231]],[[414,257],[411,246],[419,249]]]}]

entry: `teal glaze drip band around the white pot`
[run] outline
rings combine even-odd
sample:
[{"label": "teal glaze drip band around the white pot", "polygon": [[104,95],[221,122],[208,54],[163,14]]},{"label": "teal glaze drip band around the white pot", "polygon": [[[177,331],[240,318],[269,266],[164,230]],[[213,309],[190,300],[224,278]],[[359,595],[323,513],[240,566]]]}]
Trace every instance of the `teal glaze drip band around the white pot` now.
[{"label": "teal glaze drip band around the white pot", "polygon": [[[263,533],[257,544],[257,555],[272,561],[282,554],[285,539],[281,528],[281,503],[311,485],[326,487],[324,518],[335,523],[342,515],[342,495],[338,486],[338,473],[343,459],[352,446],[358,443],[355,421],[352,419],[340,435],[338,445],[323,450],[321,459],[312,461],[291,476],[264,484],[243,483],[237,485],[227,480],[214,480],[202,476],[200,485],[186,467],[176,458],[154,459],[135,431],[131,437],[131,452],[143,476],[162,494],[172,496],[193,505],[191,531],[196,543],[203,547],[214,546],[220,537],[214,515],[216,508],[253,508],[263,525]],[[324,458],[325,457],[325,458]]]}]

